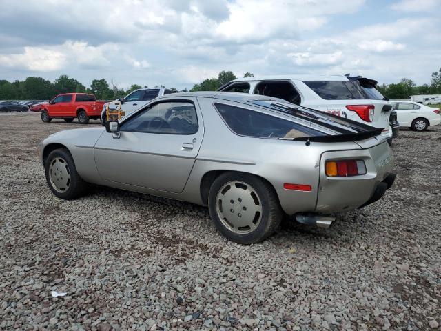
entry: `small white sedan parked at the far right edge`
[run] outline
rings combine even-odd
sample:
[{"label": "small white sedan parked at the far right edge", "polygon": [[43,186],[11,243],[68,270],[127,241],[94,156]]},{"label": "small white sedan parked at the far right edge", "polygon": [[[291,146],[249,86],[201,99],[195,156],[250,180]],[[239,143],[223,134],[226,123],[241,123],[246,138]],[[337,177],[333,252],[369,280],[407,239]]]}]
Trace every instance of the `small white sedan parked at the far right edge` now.
[{"label": "small white sedan parked at the far right edge", "polygon": [[429,126],[438,126],[441,122],[440,110],[421,103],[407,100],[391,101],[393,110],[396,110],[401,128],[411,128],[415,131],[424,131]]}]

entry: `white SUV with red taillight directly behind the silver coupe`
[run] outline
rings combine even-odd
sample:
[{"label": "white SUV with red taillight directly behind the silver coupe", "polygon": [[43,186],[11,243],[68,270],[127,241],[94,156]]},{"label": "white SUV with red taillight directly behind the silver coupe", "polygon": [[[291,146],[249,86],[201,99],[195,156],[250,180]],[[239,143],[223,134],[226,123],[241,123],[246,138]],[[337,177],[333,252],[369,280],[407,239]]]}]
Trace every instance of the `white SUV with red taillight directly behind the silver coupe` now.
[{"label": "white SUV with red taillight directly behind the silver coupe", "polygon": [[242,92],[284,99],[296,105],[314,108],[353,121],[384,128],[389,144],[391,105],[375,86],[377,81],[362,77],[283,75],[235,79],[219,88],[224,92]]}]

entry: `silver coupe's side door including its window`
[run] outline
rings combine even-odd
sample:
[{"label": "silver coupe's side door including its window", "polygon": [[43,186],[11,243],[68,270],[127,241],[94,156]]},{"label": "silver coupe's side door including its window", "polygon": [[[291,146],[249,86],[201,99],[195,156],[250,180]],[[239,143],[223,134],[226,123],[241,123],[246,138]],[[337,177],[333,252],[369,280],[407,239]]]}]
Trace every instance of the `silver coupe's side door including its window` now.
[{"label": "silver coupe's side door including its window", "polygon": [[195,98],[159,101],[123,119],[119,139],[101,135],[94,147],[96,168],[109,185],[182,192],[202,139]]}]

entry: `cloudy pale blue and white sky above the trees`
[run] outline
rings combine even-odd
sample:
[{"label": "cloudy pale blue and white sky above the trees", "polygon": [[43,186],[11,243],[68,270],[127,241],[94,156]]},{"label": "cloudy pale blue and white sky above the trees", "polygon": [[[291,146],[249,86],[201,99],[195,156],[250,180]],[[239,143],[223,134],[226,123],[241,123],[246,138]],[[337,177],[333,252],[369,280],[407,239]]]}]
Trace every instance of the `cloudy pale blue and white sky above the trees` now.
[{"label": "cloudy pale blue and white sky above the trees", "polygon": [[0,79],[191,88],[220,70],[429,83],[441,0],[0,0]]}]

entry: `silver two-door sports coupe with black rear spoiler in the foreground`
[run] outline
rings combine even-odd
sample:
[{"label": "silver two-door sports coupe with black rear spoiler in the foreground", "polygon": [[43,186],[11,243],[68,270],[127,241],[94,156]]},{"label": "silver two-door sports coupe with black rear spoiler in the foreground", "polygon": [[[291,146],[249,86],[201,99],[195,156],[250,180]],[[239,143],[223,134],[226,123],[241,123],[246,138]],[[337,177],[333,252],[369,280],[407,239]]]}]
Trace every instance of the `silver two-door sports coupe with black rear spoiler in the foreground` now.
[{"label": "silver two-door sports coupe with black rear spoiler in the foreground", "polygon": [[61,199],[94,183],[208,205],[225,237],[256,243],[284,215],[327,227],[329,214],[380,199],[395,179],[381,132],[282,99],[189,92],[105,129],[52,134],[39,156]]}]

